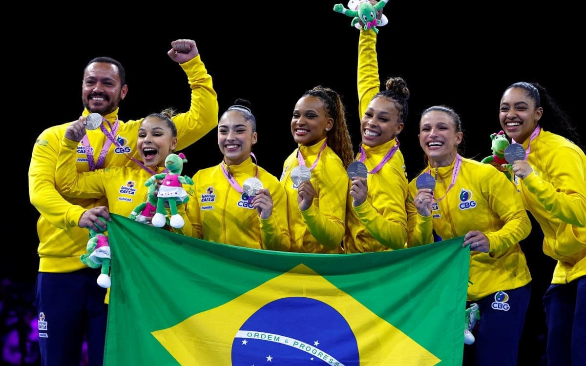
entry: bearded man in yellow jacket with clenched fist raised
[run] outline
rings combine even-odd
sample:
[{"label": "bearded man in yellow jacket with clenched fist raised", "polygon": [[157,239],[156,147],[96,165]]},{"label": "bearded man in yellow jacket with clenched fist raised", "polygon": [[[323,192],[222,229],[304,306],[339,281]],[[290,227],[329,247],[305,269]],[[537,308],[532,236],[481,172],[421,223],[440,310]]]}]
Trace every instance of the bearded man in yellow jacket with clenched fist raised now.
[{"label": "bearded man in yellow jacket with clenched fist raised", "polygon": [[[191,88],[189,111],[172,118],[178,131],[177,148],[183,149],[217,125],[217,95],[195,41],[171,42],[168,56],[185,71]],[[110,57],[91,60],[84,70],[81,91],[82,116],[98,113],[103,119],[81,141],[77,170],[139,164],[136,146],[142,118],[118,119],[118,104],[128,93],[124,67]],[[97,230],[98,217],[109,216],[105,199],[66,199],[54,186],[57,155],[70,122],[49,127],[39,135],[29,166],[30,202],[40,213],[36,284],[40,353],[43,365],[79,365],[86,333],[90,364],[101,365],[106,290],[96,283],[99,269],[88,268],[79,256],[86,252],[87,228]]]}]

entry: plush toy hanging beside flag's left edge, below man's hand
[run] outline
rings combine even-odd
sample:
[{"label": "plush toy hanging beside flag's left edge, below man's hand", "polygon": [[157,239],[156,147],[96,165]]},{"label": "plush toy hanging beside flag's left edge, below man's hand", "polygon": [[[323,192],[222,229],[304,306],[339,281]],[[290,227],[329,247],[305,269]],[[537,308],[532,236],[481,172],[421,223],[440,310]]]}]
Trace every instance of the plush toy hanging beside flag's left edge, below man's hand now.
[{"label": "plush toy hanging beside flag's left edge, below man's hand", "polygon": [[[100,217],[104,223],[104,218]],[[98,226],[98,228],[100,228]],[[97,283],[100,287],[105,289],[110,287],[110,243],[104,231],[90,230],[90,240],[87,241],[87,253],[82,254],[79,259],[81,263],[91,268],[98,268],[101,266],[102,271],[98,276]]]}]

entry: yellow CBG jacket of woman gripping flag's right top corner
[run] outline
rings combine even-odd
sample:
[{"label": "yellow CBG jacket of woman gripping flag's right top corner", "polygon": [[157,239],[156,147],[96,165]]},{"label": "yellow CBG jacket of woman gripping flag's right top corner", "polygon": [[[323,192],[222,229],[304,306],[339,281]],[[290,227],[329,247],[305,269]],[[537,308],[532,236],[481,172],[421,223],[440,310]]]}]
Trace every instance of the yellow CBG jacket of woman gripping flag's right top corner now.
[{"label": "yellow CBG jacket of woman gripping flag's right top corner", "polygon": [[[429,166],[424,172],[428,169]],[[431,168],[432,176],[437,172],[436,200],[446,193],[453,170],[454,162],[450,166]],[[455,185],[444,199],[434,202],[428,217],[418,214],[413,203],[417,194],[416,180],[409,183],[407,198],[409,247],[432,243],[432,231],[447,240],[479,230],[490,242],[488,253],[470,253],[469,301],[480,300],[499,290],[516,289],[531,281],[519,245],[531,232],[531,222],[520,194],[503,173],[490,164],[463,158]]]}]

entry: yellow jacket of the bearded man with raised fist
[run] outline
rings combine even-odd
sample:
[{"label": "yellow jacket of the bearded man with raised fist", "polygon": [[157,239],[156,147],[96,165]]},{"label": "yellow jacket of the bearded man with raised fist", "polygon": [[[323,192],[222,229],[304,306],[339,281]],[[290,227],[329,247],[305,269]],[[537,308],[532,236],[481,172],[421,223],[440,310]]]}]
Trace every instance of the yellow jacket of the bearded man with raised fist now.
[{"label": "yellow jacket of the bearded man with raised fist", "polygon": [[[180,64],[188,76],[191,88],[191,104],[188,112],[173,117],[178,131],[177,149],[183,149],[202,138],[218,122],[217,95],[213,90],[212,77],[200,59],[200,55]],[[89,112],[83,111],[87,116]],[[118,109],[104,116],[111,124],[118,118]],[[136,163],[125,155],[139,158],[136,149],[138,127],[141,119],[120,121],[116,134],[122,148],[110,146],[104,167],[134,166]],[[73,272],[86,266],[79,256],[86,252],[88,231],[77,227],[81,214],[88,208],[107,205],[105,199],[66,198],[55,188],[55,169],[60,143],[70,122],[52,126],[43,131],[35,142],[29,166],[30,203],[39,211],[37,223],[39,235],[38,253],[40,272]],[[94,158],[97,160],[107,137],[96,129],[87,131]],[[77,171],[87,172],[85,148],[80,144],[77,155]]]}]

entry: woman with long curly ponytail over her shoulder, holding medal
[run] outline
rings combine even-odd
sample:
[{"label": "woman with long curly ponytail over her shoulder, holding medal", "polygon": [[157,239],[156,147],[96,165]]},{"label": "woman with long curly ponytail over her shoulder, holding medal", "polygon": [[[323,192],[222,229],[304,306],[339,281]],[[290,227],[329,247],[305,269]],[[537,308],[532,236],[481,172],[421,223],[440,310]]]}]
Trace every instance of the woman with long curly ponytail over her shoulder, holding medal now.
[{"label": "woman with long curly ponytail over her shoulder, holding medal", "polygon": [[283,164],[291,251],[341,253],[353,160],[345,110],[336,91],[317,86],[295,104],[291,134],[298,148]]}]

